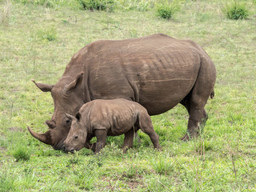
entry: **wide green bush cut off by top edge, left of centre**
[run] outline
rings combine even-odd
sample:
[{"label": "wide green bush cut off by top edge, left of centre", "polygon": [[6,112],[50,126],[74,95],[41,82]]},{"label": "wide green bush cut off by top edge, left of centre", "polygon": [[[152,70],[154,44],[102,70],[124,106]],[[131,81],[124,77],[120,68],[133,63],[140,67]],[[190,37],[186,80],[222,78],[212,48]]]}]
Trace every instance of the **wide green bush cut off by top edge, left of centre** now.
[{"label": "wide green bush cut off by top edge, left of centre", "polygon": [[114,10],[114,0],[78,0],[85,10]]}]

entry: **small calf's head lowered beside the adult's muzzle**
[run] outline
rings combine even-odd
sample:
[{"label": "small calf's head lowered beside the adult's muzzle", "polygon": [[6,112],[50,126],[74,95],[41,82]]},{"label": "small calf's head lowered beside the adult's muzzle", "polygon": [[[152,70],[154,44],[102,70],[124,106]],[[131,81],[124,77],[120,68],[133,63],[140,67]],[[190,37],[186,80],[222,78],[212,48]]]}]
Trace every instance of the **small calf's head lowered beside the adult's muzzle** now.
[{"label": "small calf's head lowered beside the adult's muzzle", "polygon": [[74,150],[81,150],[86,143],[87,130],[86,127],[82,124],[81,114],[76,114],[75,117],[66,114],[68,118],[72,121],[70,132],[64,141],[64,149],[67,152],[74,153]]}]

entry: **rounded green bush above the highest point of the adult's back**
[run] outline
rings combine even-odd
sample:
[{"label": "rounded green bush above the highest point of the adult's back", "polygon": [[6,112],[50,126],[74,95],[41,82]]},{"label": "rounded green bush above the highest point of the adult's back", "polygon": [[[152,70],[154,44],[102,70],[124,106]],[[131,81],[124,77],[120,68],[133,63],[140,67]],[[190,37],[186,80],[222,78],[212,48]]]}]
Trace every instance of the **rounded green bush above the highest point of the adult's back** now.
[{"label": "rounded green bush above the highest point of the adult's back", "polygon": [[172,18],[174,13],[180,9],[180,5],[177,1],[171,3],[164,2],[162,4],[158,4],[156,7],[158,17],[166,19]]}]

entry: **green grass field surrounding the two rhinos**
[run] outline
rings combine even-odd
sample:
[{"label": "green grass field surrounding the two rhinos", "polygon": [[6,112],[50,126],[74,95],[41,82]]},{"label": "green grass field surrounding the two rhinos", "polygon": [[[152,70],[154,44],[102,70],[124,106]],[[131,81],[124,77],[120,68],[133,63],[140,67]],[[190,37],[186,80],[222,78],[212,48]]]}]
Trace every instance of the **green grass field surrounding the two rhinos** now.
[{"label": "green grass field surrounding the two rhinos", "polygon": [[[54,2],[54,1],[53,1]],[[256,7],[229,20],[217,0],[183,1],[170,20],[135,1],[113,12],[76,4],[46,7],[0,1],[0,191],[256,191]],[[121,2],[121,1],[120,1]],[[146,1],[141,1],[146,2]],[[8,5],[7,5],[8,4]],[[136,7],[137,5],[137,7]],[[99,155],[65,154],[33,138],[45,132],[53,100],[30,79],[54,84],[72,55],[98,39],[163,33],[198,42],[217,68],[215,98],[203,133],[190,142],[181,105],[152,117],[162,151],[150,138],[122,154],[123,136],[107,139]]]}]

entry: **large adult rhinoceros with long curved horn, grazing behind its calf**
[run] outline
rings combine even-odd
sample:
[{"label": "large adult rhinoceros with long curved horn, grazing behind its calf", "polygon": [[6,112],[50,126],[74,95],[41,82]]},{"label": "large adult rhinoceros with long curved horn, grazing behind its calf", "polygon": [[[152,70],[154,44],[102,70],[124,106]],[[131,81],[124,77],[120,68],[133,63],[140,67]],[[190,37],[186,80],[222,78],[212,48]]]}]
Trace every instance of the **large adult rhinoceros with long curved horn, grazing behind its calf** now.
[{"label": "large adult rhinoceros with long curved horn, grazing behind its calf", "polygon": [[91,42],[71,58],[55,85],[34,82],[54,98],[50,130],[30,134],[61,150],[70,119],[94,99],[126,98],[139,102],[150,115],[162,114],[181,103],[190,114],[186,135],[198,134],[206,119],[204,107],[214,96],[216,70],[200,46],[165,34],[126,40]]}]

